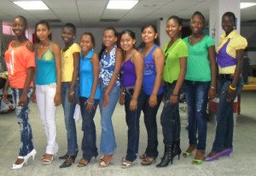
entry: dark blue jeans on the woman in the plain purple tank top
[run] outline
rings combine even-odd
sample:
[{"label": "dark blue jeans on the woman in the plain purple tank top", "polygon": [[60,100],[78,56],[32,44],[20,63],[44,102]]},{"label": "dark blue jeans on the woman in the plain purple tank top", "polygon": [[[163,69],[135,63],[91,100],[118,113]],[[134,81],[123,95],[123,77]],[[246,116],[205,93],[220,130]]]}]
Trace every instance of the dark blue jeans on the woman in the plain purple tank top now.
[{"label": "dark blue jeans on the woman in the plain purple tank top", "polygon": [[126,160],[134,162],[137,159],[138,143],[140,136],[140,116],[143,108],[143,93],[137,98],[137,110],[130,110],[130,103],[133,95],[133,89],[125,91],[125,121],[128,126],[128,144],[126,151]]}]

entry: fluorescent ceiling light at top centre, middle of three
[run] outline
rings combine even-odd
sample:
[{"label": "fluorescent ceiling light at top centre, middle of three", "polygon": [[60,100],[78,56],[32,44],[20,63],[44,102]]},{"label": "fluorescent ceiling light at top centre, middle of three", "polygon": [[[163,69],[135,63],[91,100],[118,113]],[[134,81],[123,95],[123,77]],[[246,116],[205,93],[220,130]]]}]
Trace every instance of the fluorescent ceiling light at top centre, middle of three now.
[{"label": "fluorescent ceiling light at top centre, middle of three", "polygon": [[137,0],[109,0],[107,9],[131,9]]}]

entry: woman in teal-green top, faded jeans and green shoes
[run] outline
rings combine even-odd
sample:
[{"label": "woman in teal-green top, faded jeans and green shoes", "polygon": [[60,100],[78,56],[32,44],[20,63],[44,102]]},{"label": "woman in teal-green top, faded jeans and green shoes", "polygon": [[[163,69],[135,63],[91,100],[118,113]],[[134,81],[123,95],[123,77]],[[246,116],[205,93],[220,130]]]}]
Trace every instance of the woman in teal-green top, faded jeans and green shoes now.
[{"label": "woman in teal-green top, faded jeans and green shoes", "polygon": [[[189,147],[183,157],[191,156],[192,164],[201,164],[207,146],[207,103],[216,95],[215,43],[205,35],[205,17],[195,12],[190,20],[191,36],[183,40],[189,48],[186,82],[186,101],[189,115]],[[196,139],[198,132],[198,139]]]}]

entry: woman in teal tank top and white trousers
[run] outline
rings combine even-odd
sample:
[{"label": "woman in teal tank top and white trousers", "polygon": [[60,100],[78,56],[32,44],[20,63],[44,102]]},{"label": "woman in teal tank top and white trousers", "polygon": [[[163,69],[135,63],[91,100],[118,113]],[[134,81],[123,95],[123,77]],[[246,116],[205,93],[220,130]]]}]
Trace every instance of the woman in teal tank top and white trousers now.
[{"label": "woman in teal tank top and white trousers", "polygon": [[61,105],[61,48],[51,41],[48,22],[38,22],[35,29],[37,34],[35,94],[47,139],[42,163],[50,164],[58,151],[55,113],[57,106]]}]

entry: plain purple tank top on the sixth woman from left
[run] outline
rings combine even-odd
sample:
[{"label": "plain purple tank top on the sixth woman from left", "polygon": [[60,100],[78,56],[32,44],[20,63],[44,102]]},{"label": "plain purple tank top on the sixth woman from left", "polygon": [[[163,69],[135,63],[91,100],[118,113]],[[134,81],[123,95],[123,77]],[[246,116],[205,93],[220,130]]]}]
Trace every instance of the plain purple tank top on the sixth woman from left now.
[{"label": "plain purple tank top on the sixth woman from left", "polygon": [[121,67],[122,86],[123,88],[133,88],[136,82],[135,66],[131,62],[131,58],[126,60]]}]

